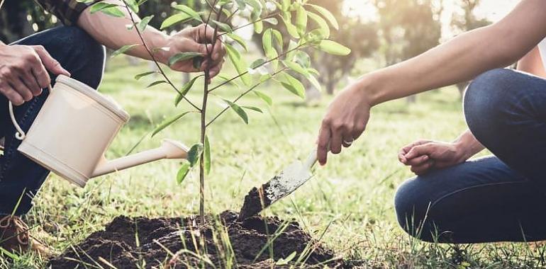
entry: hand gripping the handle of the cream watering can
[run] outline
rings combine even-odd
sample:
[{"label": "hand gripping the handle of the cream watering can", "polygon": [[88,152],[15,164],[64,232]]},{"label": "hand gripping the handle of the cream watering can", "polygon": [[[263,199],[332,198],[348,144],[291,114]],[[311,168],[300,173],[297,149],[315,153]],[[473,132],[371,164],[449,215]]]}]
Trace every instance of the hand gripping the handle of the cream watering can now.
[{"label": "hand gripping the handle of the cream watering can", "polygon": [[13,105],[22,105],[39,96],[51,83],[48,71],[70,76],[42,46],[0,42],[0,93]]}]

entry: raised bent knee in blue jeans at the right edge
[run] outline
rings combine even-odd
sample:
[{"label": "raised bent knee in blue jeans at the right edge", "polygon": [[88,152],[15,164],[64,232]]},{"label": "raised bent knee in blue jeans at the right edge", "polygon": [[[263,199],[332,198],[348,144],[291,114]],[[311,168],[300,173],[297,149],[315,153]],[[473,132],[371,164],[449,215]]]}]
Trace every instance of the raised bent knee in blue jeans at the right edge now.
[{"label": "raised bent knee in blue jeans at the right edge", "polygon": [[469,85],[464,114],[481,144],[546,193],[546,79],[487,71]]}]

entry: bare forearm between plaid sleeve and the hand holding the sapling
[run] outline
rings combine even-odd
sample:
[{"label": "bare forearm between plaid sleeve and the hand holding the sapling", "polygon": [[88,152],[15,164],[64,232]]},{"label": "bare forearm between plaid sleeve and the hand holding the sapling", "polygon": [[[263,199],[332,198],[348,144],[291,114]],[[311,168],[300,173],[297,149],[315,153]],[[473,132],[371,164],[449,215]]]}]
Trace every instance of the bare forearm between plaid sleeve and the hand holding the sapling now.
[{"label": "bare forearm between plaid sleeve and the hand holding the sapling", "polygon": [[[121,6],[124,5],[122,1],[117,0],[110,0],[106,2],[119,4]],[[143,42],[140,40],[137,30],[134,27],[132,30],[127,29],[127,25],[133,24],[133,22],[130,20],[128,11],[125,7],[121,7],[119,9],[123,11],[123,13],[126,13],[125,18],[108,16],[102,12],[91,14],[90,8],[87,8],[79,17],[77,24],[93,38],[95,38],[95,40],[113,50],[117,50],[124,45],[142,44]],[[138,15],[135,13],[133,13],[132,16],[135,21],[140,21],[140,18],[138,18]],[[147,26],[145,28],[143,31],[143,38],[148,47],[150,47],[150,50],[160,47],[167,47],[169,41],[168,36],[165,35],[165,33],[162,33],[151,26]],[[128,55],[133,55],[143,59],[151,59],[150,54],[143,45],[133,47],[133,49],[126,53]],[[162,50],[157,50],[155,52],[155,57],[157,60],[159,60],[159,62],[167,62],[167,59],[165,59],[165,54],[162,53]]]}]

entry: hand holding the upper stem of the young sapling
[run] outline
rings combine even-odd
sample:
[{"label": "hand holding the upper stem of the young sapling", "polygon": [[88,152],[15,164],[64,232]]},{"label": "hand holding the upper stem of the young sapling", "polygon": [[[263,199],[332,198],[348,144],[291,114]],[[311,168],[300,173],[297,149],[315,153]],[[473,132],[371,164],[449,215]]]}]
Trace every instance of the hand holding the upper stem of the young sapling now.
[{"label": "hand holding the upper stem of the young sapling", "polygon": [[194,67],[194,60],[188,59],[185,61],[177,62],[171,66],[171,69],[175,71],[184,72],[198,72],[210,69],[211,78],[220,73],[225,56],[225,47],[222,44],[221,38],[216,40],[216,44],[212,45],[211,42],[214,38],[214,29],[210,26],[201,24],[197,27],[186,28],[179,33],[172,35],[169,38],[167,47],[167,57],[165,62],[169,61],[169,58],[176,55],[179,52],[198,52],[204,55],[211,55],[212,62],[209,62],[205,57],[204,62],[201,63],[201,67]]}]

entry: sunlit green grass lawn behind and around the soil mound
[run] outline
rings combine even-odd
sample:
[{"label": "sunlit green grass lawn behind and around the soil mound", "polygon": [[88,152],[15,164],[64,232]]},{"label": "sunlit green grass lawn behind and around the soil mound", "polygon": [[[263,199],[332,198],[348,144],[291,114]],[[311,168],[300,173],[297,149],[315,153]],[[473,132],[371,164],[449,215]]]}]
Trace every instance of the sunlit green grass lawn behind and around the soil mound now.
[{"label": "sunlit green grass lawn behind and around the soil mound", "polygon": [[[108,158],[123,156],[165,116],[180,113],[174,93],[165,85],[145,88],[152,79],[133,76],[146,64],[129,67],[123,58],[108,65],[101,85],[132,115],[109,149]],[[179,77],[181,75],[173,75]],[[177,82],[179,83],[179,82]],[[199,103],[201,84],[189,95]],[[212,171],[206,181],[207,212],[239,210],[250,188],[264,183],[313,147],[321,117],[331,98],[306,105],[277,84],[262,89],[274,96],[269,113],[250,112],[250,125],[227,113],[209,132]],[[218,91],[230,98],[239,90]],[[211,100],[211,115],[221,109]],[[250,95],[245,104],[267,108]],[[267,110],[267,109],[266,109]],[[275,123],[277,122],[277,124]],[[272,206],[265,214],[295,218],[349,259],[364,259],[367,268],[534,268],[544,266],[544,247],[537,244],[481,244],[450,246],[423,244],[403,233],[394,216],[396,186],[411,177],[397,161],[400,147],[416,139],[451,140],[465,130],[459,93],[445,88],[418,96],[418,103],[394,101],[374,108],[365,135],[328,166],[318,167],[315,178]],[[191,145],[198,141],[199,119],[189,115],[154,138],[145,137],[138,151],[169,137]],[[57,251],[82,241],[120,214],[184,216],[199,210],[198,175],[193,171],[182,185],[175,181],[178,161],[158,161],[96,178],[86,188],[50,176],[28,214],[33,234]],[[6,268],[41,268],[45,261],[26,255]]]}]

